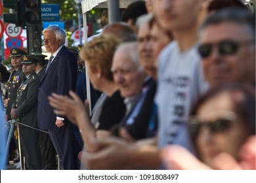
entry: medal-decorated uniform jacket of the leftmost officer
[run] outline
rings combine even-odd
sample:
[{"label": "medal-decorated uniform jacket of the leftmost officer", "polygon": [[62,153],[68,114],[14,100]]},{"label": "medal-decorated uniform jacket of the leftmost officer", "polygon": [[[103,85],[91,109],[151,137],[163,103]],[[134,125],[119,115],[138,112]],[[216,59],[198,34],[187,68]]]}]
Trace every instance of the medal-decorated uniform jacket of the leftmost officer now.
[{"label": "medal-decorated uniform jacket of the leftmost officer", "polygon": [[7,119],[11,120],[11,110],[12,105],[16,99],[17,96],[17,90],[20,87],[21,82],[24,80],[25,75],[22,73],[22,67],[20,67],[17,71],[13,71],[14,73],[11,73],[11,76],[7,82],[8,85],[8,105],[6,109]]}]

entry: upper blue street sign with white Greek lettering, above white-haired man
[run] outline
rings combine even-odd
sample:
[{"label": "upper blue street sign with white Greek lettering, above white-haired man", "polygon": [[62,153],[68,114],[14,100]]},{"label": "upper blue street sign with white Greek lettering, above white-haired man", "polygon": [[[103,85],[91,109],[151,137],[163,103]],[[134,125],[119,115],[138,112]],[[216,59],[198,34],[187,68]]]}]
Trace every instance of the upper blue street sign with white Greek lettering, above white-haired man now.
[{"label": "upper blue street sign with white Greek lettering, above white-haired man", "polygon": [[43,22],[60,21],[60,6],[52,4],[41,4],[41,19]]}]

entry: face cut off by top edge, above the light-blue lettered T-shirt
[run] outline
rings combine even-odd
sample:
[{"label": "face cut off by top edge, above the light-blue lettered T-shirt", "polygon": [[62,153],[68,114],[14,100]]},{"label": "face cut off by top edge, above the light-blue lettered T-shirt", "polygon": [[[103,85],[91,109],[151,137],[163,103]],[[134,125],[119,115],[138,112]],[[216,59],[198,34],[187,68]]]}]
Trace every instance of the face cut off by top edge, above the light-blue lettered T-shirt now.
[{"label": "face cut off by top edge, above the light-blue lettered T-shirt", "polygon": [[179,31],[195,25],[198,0],[153,0],[154,14],[160,25],[167,30]]}]

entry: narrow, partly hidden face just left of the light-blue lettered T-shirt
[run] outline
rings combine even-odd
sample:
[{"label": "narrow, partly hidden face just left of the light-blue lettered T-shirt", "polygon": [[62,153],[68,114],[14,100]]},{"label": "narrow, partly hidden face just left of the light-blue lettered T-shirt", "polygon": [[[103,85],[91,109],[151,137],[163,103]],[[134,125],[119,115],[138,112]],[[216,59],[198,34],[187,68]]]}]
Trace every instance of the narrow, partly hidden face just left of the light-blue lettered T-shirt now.
[{"label": "narrow, partly hidden face just left of the light-blue lettered T-shirt", "polygon": [[148,75],[152,75],[152,73],[156,73],[156,68],[154,67],[152,45],[150,44],[150,29],[147,22],[140,26],[138,39],[140,65]]}]

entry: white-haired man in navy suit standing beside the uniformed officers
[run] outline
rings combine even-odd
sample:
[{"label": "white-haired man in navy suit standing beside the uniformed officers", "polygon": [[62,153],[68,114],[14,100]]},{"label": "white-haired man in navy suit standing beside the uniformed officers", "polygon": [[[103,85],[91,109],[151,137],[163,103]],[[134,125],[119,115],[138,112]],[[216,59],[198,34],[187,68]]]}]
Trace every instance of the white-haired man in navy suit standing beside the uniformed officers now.
[{"label": "white-haired man in navy suit standing beside the uniformed officers", "polygon": [[54,148],[60,158],[60,169],[77,169],[77,154],[72,124],[64,116],[56,116],[48,103],[51,93],[68,95],[75,91],[77,58],[64,46],[66,33],[60,27],[43,30],[43,43],[51,53],[38,93],[37,120],[39,128],[49,131]]}]

